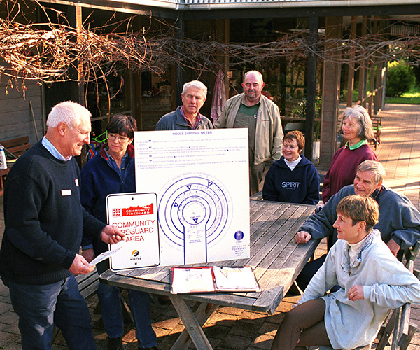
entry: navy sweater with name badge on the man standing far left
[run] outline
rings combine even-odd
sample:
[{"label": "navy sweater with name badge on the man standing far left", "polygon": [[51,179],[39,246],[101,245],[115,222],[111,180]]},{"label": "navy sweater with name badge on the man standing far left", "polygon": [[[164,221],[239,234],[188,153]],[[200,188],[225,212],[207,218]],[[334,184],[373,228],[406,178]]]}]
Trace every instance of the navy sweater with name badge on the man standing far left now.
[{"label": "navy sweater with name badge on the man standing far left", "polygon": [[48,284],[70,276],[83,230],[95,236],[105,227],[80,204],[79,178],[76,160],[57,160],[41,141],[15,162],[4,193],[3,279]]}]

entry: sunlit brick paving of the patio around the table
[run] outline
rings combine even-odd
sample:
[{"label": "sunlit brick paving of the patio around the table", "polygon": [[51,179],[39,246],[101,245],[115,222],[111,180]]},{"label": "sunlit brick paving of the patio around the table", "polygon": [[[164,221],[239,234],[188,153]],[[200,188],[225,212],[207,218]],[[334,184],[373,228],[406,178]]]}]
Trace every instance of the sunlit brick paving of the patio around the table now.
[{"label": "sunlit brick paving of the patio around the table", "polygon": [[[420,106],[387,104],[381,112],[384,117],[381,132],[382,144],[377,155],[386,169],[384,184],[404,193],[420,208]],[[0,237],[3,235],[3,197],[0,197]],[[321,245],[317,253],[322,253]],[[416,265],[420,265],[417,262]],[[417,266],[419,267],[419,266]],[[215,350],[264,350],[269,349],[283,313],[291,309],[299,297],[286,297],[273,315],[259,312],[221,307],[204,324],[204,332]],[[97,307],[97,296],[87,301],[92,314],[93,332],[99,350],[106,349],[106,334]],[[197,307],[197,304],[191,303]],[[170,349],[183,325],[172,305],[162,305],[157,297],[152,297],[151,315],[153,328],[158,335],[158,348]],[[420,325],[420,307],[412,309],[412,321]],[[126,324],[123,338],[124,349],[137,349],[133,325]],[[13,312],[8,289],[0,281],[0,349],[20,349],[18,317]],[[64,339],[59,334],[52,349],[66,349]],[[190,346],[189,349],[195,349]],[[200,350],[200,349],[199,349]],[[409,345],[409,350],[420,350],[420,331],[417,331]]]}]

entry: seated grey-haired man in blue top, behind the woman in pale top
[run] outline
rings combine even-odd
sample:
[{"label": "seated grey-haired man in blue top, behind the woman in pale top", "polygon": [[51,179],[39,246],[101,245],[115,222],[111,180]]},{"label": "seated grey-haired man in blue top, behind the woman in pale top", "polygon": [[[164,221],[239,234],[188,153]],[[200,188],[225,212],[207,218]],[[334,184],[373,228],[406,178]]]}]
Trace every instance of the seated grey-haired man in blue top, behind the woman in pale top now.
[{"label": "seated grey-haired man in blue top, behind the woman in pale top", "polygon": [[[333,195],[318,213],[309,216],[295,236],[298,244],[309,239],[332,236],[332,244],[337,241],[337,204],[349,195],[368,195],[379,204],[379,223],[374,228],[381,232],[382,240],[393,255],[400,258],[402,250],[413,246],[420,239],[420,213],[412,202],[399,193],[382,185],[385,169],[380,162],[365,160],[357,167],[353,185],[344,186]],[[400,254],[398,254],[400,253]],[[306,288],[312,276],[323,264],[325,255],[308,262],[297,277],[297,285]]]}]

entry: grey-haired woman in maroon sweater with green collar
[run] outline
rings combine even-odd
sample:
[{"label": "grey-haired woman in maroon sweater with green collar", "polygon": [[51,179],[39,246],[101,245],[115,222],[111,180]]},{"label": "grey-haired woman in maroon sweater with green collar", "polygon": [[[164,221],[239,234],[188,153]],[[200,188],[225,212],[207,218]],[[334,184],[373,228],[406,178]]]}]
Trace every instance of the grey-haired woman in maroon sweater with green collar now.
[{"label": "grey-haired woman in maroon sweater with green collar", "polygon": [[327,202],[341,188],[351,185],[358,165],[365,160],[378,160],[367,144],[373,139],[372,120],[362,106],[347,107],[340,127],[347,143],[334,154],[323,181],[322,200]]}]

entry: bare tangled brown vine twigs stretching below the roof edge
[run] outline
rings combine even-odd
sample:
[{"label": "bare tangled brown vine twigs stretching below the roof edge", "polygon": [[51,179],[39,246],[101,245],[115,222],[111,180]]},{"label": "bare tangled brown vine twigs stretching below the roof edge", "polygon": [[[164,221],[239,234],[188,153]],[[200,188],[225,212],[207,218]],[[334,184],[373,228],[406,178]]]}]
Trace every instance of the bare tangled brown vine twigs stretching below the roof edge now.
[{"label": "bare tangled brown vine twigs stretching below the roof edge", "polygon": [[[40,29],[48,28],[48,29]],[[128,28],[128,25],[127,25]],[[410,56],[411,64],[420,65],[420,36],[390,36],[386,30],[356,38],[330,39],[319,36],[317,49],[309,45],[307,31],[293,31],[269,43],[218,43],[176,38],[174,27],[167,31],[145,30],[142,33],[102,33],[99,30],[76,29],[52,22],[21,24],[0,19],[0,76],[10,84],[25,80],[42,83],[77,80],[78,63],[83,65],[83,81],[97,82],[118,69],[153,71],[158,75],[179,64],[197,72],[217,72],[220,57],[228,55],[229,67],[265,64],[280,57],[290,62],[309,53],[321,61],[337,64],[355,63],[356,68],[372,67]],[[337,55],[337,51],[342,55]],[[223,65],[226,66],[225,62]]]}]

